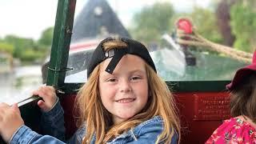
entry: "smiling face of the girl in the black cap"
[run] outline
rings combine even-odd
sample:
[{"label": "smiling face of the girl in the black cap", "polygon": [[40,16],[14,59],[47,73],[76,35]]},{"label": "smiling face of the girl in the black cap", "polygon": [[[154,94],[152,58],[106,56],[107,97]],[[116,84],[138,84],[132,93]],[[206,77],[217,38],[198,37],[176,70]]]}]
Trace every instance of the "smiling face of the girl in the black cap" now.
[{"label": "smiling face of the girl in the black cap", "polygon": [[148,83],[142,58],[126,54],[118,62],[113,74],[107,73],[107,58],[100,67],[99,92],[103,106],[112,114],[114,123],[138,114],[146,106]]}]

